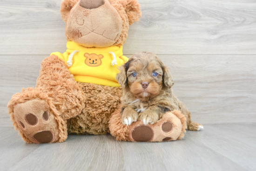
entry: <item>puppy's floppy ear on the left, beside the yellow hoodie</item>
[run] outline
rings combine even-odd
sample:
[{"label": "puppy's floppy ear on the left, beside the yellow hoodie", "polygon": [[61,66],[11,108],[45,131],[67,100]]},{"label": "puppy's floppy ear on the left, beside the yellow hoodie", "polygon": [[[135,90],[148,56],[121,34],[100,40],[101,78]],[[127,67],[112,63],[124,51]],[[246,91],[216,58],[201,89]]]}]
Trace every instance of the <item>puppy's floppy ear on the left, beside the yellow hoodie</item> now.
[{"label": "puppy's floppy ear on the left, beside the yellow hoodie", "polygon": [[131,60],[128,60],[124,65],[120,66],[120,72],[116,75],[116,80],[121,85],[121,87],[125,88],[128,87],[128,78],[127,78],[127,71],[129,69]]}]

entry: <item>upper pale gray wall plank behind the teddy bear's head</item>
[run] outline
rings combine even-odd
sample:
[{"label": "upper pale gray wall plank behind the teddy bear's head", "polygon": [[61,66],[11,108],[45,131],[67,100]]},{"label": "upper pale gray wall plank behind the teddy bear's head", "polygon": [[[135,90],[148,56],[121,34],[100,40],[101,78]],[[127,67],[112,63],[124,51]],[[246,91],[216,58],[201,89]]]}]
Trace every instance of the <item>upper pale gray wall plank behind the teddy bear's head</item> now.
[{"label": "upper pale gray wall plank behind the teddy bear's head", "polygon": [[[255,0],[139,0],[125,54],[256,54]],[[0,54],[66,50],[61,0],[1,0]]]}]

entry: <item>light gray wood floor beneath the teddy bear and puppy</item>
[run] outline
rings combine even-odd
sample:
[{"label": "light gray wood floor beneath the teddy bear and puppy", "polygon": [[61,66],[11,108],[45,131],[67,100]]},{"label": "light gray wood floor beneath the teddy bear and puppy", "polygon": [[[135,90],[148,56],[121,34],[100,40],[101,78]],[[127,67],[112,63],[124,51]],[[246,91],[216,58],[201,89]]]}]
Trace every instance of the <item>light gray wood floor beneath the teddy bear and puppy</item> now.
[{"label": "light gray wood floor beneath the teddy bear and puppy", "polygon": [[[226,129],[237,126],[245,132]],[[255,124],[205,125],[180,141],[162,143],[69,135],[64,143],[40,145],[25,144],[14,129],[0,127],[5,135],[0,137],[0,165],[8,171],[253,171],[256,147],[244,142],[255,144],[256,138],[243,137],[252,127]]]}]

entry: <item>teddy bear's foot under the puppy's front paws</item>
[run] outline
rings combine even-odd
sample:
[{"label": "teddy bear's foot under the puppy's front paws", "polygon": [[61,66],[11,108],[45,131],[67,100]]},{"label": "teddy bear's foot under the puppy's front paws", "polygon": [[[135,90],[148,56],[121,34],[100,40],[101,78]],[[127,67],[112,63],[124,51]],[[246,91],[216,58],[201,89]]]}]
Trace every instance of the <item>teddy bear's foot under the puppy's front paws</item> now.
[{"label": "teddy bear's foot under the puppy's front paws", "polygon": [[133,142],[174,141],[184,137],[187,129],[185,116],[180,111],[167,112],[153,125],[144,125],[137,121],[131,125],[122,125],[120,113],[110,118],[109,130],[117,140]]}]

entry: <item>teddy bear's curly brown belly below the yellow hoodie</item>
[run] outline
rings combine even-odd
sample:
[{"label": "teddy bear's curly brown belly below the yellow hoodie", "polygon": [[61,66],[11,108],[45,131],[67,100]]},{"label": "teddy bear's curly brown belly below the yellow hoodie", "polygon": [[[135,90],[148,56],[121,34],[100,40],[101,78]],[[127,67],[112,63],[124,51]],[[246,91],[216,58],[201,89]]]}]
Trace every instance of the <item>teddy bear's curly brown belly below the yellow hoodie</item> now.
[{"label": "teddy bear's curly brown belly below the yellow hoodie", "polygon": [[67,120],[69,134],[106,134],[109,133],[110,115],[120,105],[121,87],[80,83],[84,92],[85,107],[74,118]]}]

